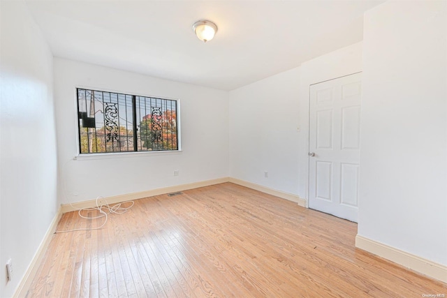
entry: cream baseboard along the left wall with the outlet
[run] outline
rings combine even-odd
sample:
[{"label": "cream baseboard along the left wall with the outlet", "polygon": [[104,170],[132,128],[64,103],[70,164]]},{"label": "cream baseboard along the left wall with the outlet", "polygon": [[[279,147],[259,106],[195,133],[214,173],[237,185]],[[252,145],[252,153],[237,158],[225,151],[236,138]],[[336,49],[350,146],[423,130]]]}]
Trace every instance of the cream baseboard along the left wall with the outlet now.
[{"label": "cream baseboard along the left wall with the outlet", "polygon": [[38,249],[36,251],[36,254],[34,255],[33,260],[31,260],[31,263],[29,264],[27,271],[25,271],[22,281],[20,281],[19,285],[17,286],[17,289],[15,290],[13,297],[17,298],[25,297],[27,295],[29,287],[33,282],[34,276],[36,276],[37,269],[41,261],[43,260],[43,257],[45,256],[48,246],[50,245],[50,241],[52,239],[54,232],[56,231],[57,223],[59,223],[61,216],[62,216],[61,207],[59,207],[59,210],[57,210],[56,215],[54,215],[54,218],[50,223],[50,227],[45,233],[45,236],[43,237],[41,244],[38,246]]}]

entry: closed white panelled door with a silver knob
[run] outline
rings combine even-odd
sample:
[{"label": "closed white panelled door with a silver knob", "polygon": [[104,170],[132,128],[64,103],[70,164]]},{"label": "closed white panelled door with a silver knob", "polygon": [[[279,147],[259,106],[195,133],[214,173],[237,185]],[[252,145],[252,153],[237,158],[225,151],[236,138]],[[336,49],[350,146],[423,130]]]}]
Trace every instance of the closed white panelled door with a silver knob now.
[{"label": "closed white panelled door with a silver knob", "polygon": [[361,73],[310,87],[309,208],[357,222]]}]

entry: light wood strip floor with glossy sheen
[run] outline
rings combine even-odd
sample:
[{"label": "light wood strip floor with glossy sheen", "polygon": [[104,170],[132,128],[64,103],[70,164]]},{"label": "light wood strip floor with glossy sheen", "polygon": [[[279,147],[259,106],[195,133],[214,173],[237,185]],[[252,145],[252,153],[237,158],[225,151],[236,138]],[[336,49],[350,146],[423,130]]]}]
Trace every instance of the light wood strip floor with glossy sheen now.
[{"label": "light wood strip floor with glossy sheen", "polygon": [[[54,234],[27,297],[447,294],[354,246],[357,225],[235,184],[136,200],[101,230]],[[64,214],[58,229],[96,227]]]}]

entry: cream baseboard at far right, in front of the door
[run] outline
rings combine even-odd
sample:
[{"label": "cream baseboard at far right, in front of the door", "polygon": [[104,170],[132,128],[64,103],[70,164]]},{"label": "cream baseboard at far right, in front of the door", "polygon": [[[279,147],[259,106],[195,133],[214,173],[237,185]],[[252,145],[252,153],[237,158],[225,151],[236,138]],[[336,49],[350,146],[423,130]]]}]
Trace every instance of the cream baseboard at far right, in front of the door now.
[{"label": "cream baseboard at far right, in front of the door", "polygon": [[379,257],[386,258],[387,260],[395,262],[408,269],[447,283],[447,267],[444,265],[420,258],[417,255],[406,253],[400,249],[360,235],[356,236],[356,247],[369,253],[374,253],[374,255],[379,255]]}]

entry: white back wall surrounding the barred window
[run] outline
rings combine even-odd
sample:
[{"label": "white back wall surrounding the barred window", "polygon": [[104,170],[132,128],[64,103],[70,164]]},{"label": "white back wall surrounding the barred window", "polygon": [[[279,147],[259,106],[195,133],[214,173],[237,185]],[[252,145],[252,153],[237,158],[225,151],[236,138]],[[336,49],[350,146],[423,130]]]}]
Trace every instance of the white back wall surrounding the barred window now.
[{"label": "white back wall surrounding the barred window", "polygon": [[[182,151],[74,161],[76,86],[179,98]],[[55,58],[54,100],[62,203],[228,177],[227,91]],[[173,176],[174,170],[179,176]]]}]

